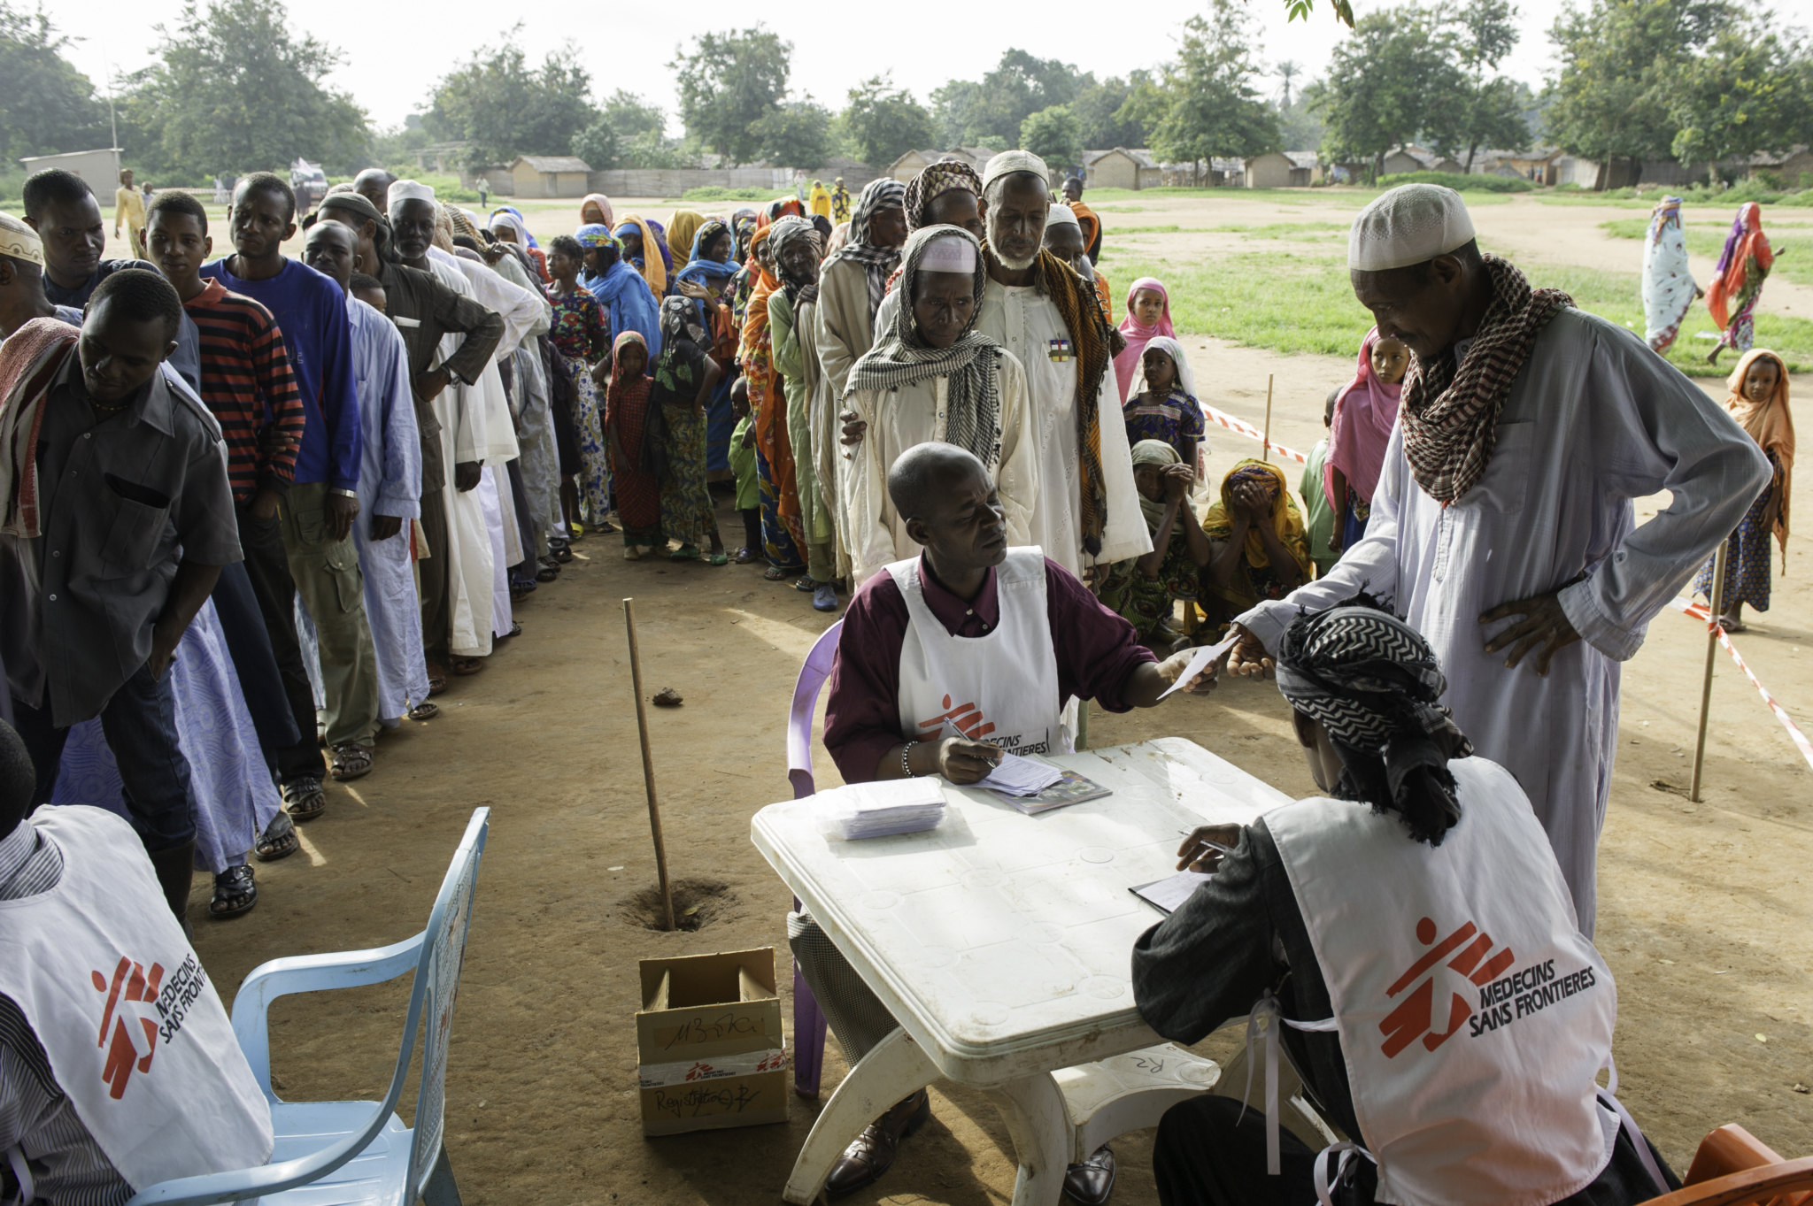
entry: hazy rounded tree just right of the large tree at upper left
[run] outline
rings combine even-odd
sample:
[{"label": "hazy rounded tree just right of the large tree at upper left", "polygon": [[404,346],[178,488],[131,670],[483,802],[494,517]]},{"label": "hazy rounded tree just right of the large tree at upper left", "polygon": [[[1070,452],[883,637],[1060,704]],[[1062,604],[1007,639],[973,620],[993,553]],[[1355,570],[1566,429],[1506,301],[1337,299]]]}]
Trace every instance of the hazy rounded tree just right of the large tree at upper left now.
[{"label": "hazy rounded tree just right of the large tree at upper left", "polygon": [[567,43],[531,67],[520,33],[517,25],[502,45],[475,51],[430,94],[428,129],[464,141],[468,163],[573,154],[573,138],[598,116],[578,47]]}]

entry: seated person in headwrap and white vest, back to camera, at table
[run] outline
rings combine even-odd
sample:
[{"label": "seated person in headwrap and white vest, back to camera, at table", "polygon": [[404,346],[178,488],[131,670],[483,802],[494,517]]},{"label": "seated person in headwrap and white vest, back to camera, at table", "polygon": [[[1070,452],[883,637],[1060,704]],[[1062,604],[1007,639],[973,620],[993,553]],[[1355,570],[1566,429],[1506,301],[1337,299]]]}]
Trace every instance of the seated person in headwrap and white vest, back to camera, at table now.
[{"label": "seated person in headwrap and white vest, back to camera, at table", "polygon": [[1681,1188],[1594,1081],[1612,974],[1530,800],[1469,757],[1445,686],[1429,643],[1363,596],[1284,634],[1278,690],[1334,799],[1191,835],[1178,853],[1215,878],[1140,936],[1133,992],[1177,1043],[1265,1016],[1258,1041],[1285,1043],[1351,1141],[1318,1155],[1280,1135],[1260,1086],[1244,1117],[1195,1097],[1159,1125],[1164,1206],[1621,1206]]}]

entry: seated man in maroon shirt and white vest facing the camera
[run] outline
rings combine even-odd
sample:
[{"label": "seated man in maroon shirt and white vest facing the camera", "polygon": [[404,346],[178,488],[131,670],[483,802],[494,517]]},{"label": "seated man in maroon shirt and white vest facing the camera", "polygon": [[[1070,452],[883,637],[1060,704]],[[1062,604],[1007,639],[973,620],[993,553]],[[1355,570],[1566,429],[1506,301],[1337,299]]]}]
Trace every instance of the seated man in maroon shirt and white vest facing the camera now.
[{"label": "seated man in maroon shirt and white vest facing the camera", "polygon": [[[1008,549],[995,483],[968,451],[906,449],[888,469],[888,498],[925,552],[870,578],[843,616],[825,748],[845,782],[943,775],[968,784],[1003,750],[1070,753],[1068,699],[1149,708],[1188,668],[1189,652],[1155,661],[1133,625],[1037,547]],[[1213,686],[1209,668],[1186,690]],[[965,735],[943,735],[946,723]],[[899,1023],[810,914],[789,914],[787,940],[854,1065]],[[825,1192],[872,1184],[930,1114],[923,1088],[896,1103],[838,1159]],[[1064,1190],[1100,1206],[1113,1181],[1102,1144],[1070,1166]]]}]

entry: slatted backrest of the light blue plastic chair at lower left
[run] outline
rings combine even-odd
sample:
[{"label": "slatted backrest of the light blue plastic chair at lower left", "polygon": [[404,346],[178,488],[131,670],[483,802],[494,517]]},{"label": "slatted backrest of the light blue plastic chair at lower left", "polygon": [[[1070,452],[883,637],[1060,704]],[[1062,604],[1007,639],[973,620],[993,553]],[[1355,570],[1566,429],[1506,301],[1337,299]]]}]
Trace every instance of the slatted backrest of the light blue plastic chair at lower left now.
[{"label": "slatted backrest of the light blue plastic chair at lower left", "polygon": [[[428,1184],[428,1175],[441,1155],[444,1126],[448,1039],[453,1036],[453,1001],[459,998],[459,976],[466,963],[466,934],[471,929],[471,896],[479,884],[479,860],[490,835],[490,809],[479,809],[466,826],[466,837],[453,855],[435,896],[435,911],[428,916],[422,942],[422,963],[415,972],[413,998],[422,998],[426,1030],[422,1034],[422,1085],[415,1099],[415,1137],[410,1146],[410,1181],[415,1195]],[[413,1036],[412,1036],[413,1039]],[[397,1068],[397,1079],[408,1068],[408,1047]],[[413,1197],[412,1197],[413,1201]]]}]

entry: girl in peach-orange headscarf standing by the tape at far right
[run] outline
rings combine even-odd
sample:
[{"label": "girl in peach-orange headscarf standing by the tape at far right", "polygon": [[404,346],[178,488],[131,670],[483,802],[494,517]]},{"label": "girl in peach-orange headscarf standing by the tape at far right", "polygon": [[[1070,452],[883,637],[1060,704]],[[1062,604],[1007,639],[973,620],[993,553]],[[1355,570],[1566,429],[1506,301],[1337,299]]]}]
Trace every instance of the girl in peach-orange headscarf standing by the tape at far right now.
[{"label": "girl in peach-orange headscarf standing by the tape at far right", "polygon": [[[1788,366],[1766,348],[1746,351],[1726,378],[1731,391],[1724,409],[1750,433],[1762,455],[1769,458],[1766,491],[1744,512],[1731,532],[1731,547],[1724,554],[1724,616],[1719,623],[1726,632],[1744,630],[1744,603],[1759,612],[1769,610],[1769,534],[1782,545],[1782,565],[1788,565],[1788,487],[1795,469],[1795,420],[1788,411]],[[1693,579],[1693,592],[1711,601],[1711,567],[1708,560]]]}]

